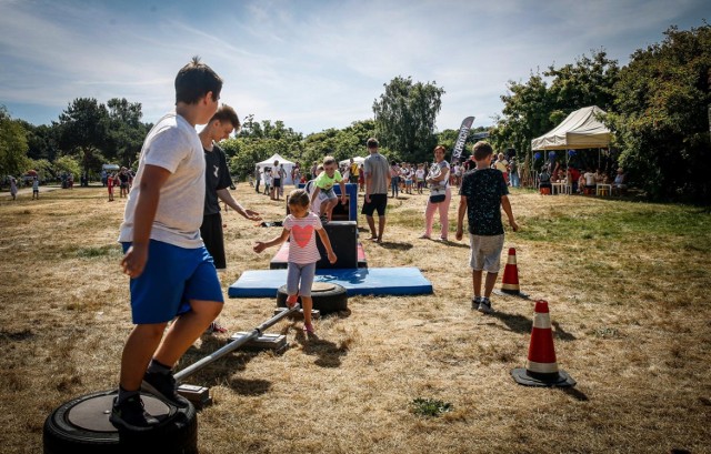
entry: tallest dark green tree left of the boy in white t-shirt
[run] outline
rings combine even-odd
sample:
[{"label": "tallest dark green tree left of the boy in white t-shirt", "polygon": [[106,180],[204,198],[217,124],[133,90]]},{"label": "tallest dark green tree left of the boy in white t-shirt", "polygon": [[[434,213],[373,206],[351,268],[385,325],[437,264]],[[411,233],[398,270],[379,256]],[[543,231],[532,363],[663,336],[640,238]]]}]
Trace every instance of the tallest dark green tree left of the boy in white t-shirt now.
[{"label": "tallest dark green tree left of the boy in white t-shirt", "polygon": [[103,162],[101,150],[109,140],[109,113],[93,98],[78,98],[59,115],[60,149],[76,157],[84,172],[98,171]]}]

